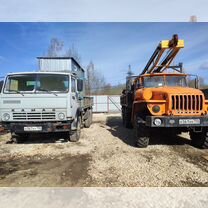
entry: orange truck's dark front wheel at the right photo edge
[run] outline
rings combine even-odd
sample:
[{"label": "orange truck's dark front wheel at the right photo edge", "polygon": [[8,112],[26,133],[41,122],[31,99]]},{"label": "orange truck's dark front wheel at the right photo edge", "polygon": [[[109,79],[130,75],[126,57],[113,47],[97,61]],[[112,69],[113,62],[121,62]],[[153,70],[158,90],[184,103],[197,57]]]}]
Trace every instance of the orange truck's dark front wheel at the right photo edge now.
[{"label": "orange truck's dark front wheel at the right photo edge", "polygon": [[202,132],[189,132],[193,146],[208,149],[208,129],[202,129]]}]

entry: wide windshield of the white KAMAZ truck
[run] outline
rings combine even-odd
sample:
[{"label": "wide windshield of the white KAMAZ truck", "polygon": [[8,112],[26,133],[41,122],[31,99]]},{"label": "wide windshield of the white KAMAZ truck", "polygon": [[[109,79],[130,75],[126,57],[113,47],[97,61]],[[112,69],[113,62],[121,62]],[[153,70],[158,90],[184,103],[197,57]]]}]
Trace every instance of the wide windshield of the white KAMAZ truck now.
[{"label": "wide windshield of the white KAMAZ truck", "polygon": [[7,77],[4,92],[67,92],[69,77],[60,74],[21,74]]}]

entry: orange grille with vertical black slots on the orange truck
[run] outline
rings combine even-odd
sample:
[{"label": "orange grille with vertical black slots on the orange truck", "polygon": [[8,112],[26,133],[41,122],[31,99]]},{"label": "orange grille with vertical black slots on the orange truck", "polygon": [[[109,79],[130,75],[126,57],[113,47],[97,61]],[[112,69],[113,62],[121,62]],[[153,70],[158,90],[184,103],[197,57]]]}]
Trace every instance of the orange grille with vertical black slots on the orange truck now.
[{"label": "orange grille with vertical black slots on the orange truck", "polygon": [[199,114],[203,110],[202,95],[172,95],[174,114]]}]

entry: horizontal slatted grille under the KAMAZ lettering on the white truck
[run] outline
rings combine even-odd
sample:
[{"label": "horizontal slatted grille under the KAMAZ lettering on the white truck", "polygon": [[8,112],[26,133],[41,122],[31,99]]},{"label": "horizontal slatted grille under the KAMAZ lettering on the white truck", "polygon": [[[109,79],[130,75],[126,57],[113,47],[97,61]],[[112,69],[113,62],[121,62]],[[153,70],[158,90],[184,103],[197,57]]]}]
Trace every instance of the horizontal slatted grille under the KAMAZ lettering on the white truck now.
[{"label": "horizontal slatted grille under the KAMAZ lettering on the white truck", "polygon": [[55,118],[56,118],[55,112],[13,113],[13,120],[55,120]]}]

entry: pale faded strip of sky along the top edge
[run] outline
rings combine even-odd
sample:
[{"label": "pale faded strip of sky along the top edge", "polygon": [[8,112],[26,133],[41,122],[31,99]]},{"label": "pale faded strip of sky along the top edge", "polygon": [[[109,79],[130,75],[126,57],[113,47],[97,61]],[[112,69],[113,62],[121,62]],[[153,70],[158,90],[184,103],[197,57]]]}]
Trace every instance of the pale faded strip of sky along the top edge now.
[{"label": "pale faded strip of sky along the top edge", "polygon": [[207,0],[1,0],[1,21],[208,21]]}]

